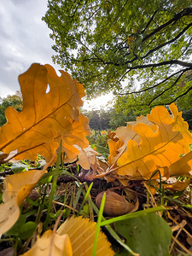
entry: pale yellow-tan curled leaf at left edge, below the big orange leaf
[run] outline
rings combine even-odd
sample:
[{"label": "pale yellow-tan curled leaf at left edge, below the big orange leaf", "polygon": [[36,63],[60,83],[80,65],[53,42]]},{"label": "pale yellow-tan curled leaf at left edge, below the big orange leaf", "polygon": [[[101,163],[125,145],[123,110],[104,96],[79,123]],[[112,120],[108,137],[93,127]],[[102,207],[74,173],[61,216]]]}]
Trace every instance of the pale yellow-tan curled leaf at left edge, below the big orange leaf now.
[{"label": "pale yellow-tan curled leaf at left edge, below the big orange leaf", "polygon": [[0,205],[0,234],[15,224],[20,216],[20,204],[43,175],[44,171],[32,170],[5,177],[3,203]]}]

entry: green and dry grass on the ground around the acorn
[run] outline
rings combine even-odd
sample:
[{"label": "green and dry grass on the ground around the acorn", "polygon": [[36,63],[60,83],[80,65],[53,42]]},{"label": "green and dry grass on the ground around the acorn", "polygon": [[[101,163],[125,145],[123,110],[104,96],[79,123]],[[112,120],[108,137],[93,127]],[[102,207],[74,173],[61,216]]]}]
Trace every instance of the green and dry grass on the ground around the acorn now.
[{"label": "green and dry grass on the ground around the acorn", "polygon": [[[108,148],[105,149],[108,150]],[[40,168],[40,162],[41,159],[38,159],[37,162],[22,161],[21,164],[29,166],[29,169]],[[2,165],[0,171],[3,174],[2,177],[16,172],[12,170],[9,163]],[[96,255],[101,228],[108,236],[116,255],[125,255],[125,251],[127,255],[138,255],[134,247],[130,247],[126,242],[125,237],[118,234],[116,224],[118,222],[123,224],[127,219],[141,218],[151,212],[157,212],[172,229],[170,255],[192,255],[189,250],[192,246],[191,181],[188,188],[180,192],[166,190],[161,178],[158,187],[153,183],[148,183],[146,187],[143,181],[131,181],[128,189],[131,189],[139,199],[138,211],[111,218],[103,213],[106,198],[103,196],[99,210],[95,204],[96,195],[102,190],[113,189],[119,195],[126,197],[125,187],[118,180],[108,183],[105,179],[88,181],[82,178],[82,175],[84,177],[84,170],[79,169],[75,163],[63,164],[61,151],[59,151],[56,165],[49,167],[49,172],[40,179],[35,188],[38,197],[32,198],[32,193],[28,195],[20,207],[20,218],[17,223],[2,236],[0,249],[13,247],[15,255],[24,253],[32,247],[38,235],[42,235],[45,230],[54,229],[58,218],[61,218],[59,221],[61,224],[70,216],[80,215],[96,222],[92,256]],[[183,177],[177,179],[182,180]],[[154,195],[150,192],[153,186],[157,190]],[[2,201],[2,193],[0,200]],[[28,234],[26,232],[24,237],[22,230],[26,226],[29,232]]]}]

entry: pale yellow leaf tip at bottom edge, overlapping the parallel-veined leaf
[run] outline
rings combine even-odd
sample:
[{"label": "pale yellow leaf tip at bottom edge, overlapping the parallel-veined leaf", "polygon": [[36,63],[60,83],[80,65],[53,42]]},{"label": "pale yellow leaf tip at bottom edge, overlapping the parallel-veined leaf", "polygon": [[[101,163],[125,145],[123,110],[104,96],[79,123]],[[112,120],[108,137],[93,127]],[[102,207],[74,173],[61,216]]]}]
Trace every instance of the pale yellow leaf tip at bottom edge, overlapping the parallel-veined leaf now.
[{"label": "pale yellow leaf tip at bottom edge, overlapping the parallel-veined leaf", "polygon": [[47,230],[39,237],[34,246],[23,256],[73,256],[71,241],[67,234],[58,235]]}]

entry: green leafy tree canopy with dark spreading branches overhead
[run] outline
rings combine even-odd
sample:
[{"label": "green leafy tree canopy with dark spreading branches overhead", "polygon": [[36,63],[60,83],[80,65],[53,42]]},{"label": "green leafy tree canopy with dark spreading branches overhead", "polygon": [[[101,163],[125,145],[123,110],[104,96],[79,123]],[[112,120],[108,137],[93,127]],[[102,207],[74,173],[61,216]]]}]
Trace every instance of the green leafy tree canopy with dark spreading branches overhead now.
[{"label": "green leafy tree canopy with dark spreading branches overhead", "polygon": [[49,0],[43,20],[54,61],[88,96],[151,108],[191,98],[191,15],[189,0]]}]

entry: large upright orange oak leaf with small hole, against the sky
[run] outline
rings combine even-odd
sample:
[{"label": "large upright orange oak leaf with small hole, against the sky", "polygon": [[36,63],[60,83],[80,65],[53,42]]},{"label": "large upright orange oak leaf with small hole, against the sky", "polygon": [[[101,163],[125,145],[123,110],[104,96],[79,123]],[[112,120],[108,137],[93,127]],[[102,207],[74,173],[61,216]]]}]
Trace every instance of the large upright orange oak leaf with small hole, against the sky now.
[{"label": "large upright orange oak leaf with small hole, against the sky", "polygon": [[20,113],[11,107],[5,110],[7,123],[0,130],[3,154],[16,151],[15,159],[30,160],[41,154],[49,161],[61,138],[67,154],[76,150],[73,143],[87,147],[88,121],[79,113],[84,96],[82,84],[68,73],[61,71],[59,77],[53,67],[39,64],[32,64],[19,76],[19,82],[23,109]]}]

